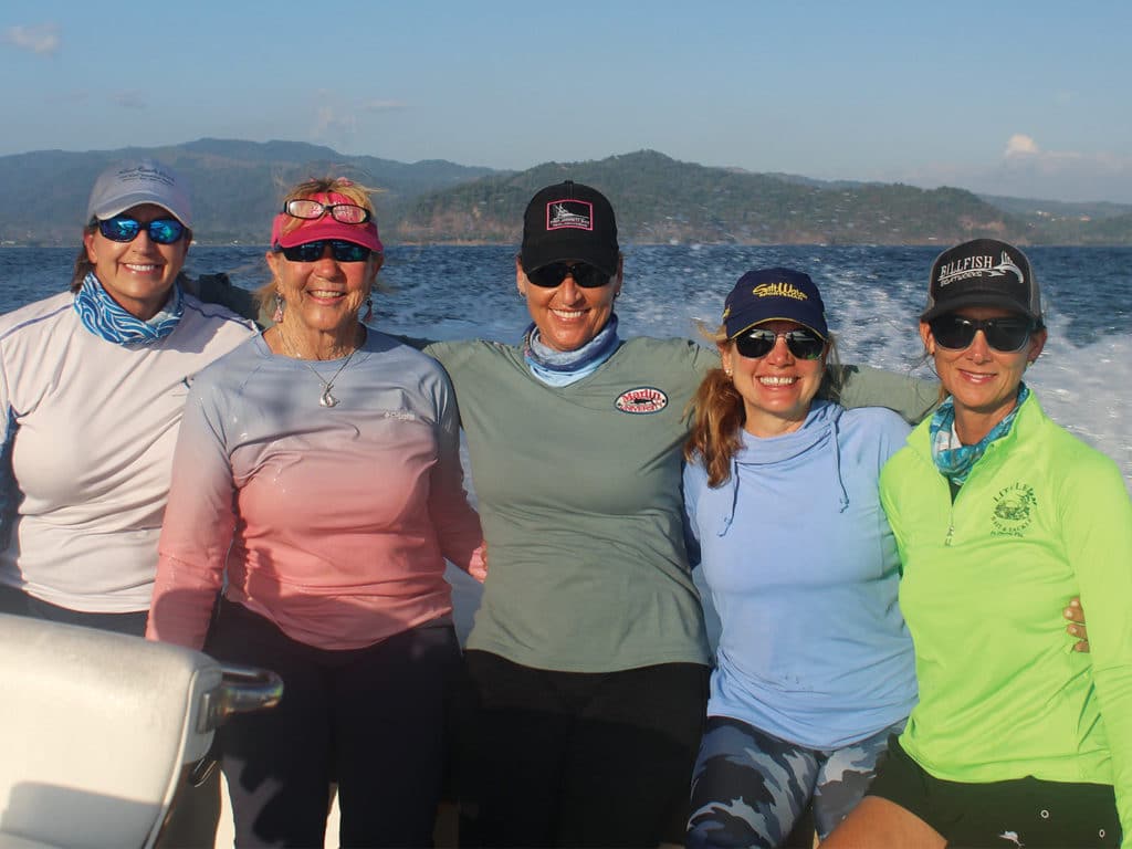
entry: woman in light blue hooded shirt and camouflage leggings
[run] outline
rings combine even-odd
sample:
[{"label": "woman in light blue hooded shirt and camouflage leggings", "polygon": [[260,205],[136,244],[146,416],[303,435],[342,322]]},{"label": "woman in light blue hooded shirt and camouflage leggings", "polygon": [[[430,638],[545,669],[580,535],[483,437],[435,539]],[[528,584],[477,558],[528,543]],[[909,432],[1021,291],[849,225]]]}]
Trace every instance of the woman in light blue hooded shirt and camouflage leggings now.
[{"label": "woman in light blue hooded shirt and camouflage leggings", "polygon": [[745,274],[715,341],[685,445],[722,623],[687,844],[773,847],[811,803],[821,838],[852,809],[916,701],[877,495],[909,428],[815,398],[833,341],[806,274]]}]

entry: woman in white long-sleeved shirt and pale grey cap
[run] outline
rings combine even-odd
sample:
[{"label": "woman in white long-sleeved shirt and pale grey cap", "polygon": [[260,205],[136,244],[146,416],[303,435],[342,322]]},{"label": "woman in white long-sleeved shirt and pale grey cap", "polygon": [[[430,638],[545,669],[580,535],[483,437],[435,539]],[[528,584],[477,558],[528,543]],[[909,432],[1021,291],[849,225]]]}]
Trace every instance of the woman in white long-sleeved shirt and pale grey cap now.
[{"label": "woman in white long-sleeved shirt and pale grey cap", "polygon": [[[145,633],[192,376],[252,334],[183,291],[185,181],[137,160],[94,185],[70,291],[0,317],[0,612]],[[218,783],[166,835],[209,843]]]}]

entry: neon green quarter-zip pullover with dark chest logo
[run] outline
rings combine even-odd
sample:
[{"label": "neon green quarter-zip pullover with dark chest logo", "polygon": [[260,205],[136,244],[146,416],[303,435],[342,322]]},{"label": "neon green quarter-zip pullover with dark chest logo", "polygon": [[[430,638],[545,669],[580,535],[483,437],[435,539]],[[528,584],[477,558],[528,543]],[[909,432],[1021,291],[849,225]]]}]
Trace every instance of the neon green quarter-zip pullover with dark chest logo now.
[{"label": "neon green quarter-zip pullover with dark chest logo", "polygon": [[[1116,464],[1031,393],[954,503],[927,422],[881,496],[920,689],[903,749],[950,781],[1114,784],[1132,833],[1132,504]],[[1078,594],[1089,654],[1063,638]]]}]

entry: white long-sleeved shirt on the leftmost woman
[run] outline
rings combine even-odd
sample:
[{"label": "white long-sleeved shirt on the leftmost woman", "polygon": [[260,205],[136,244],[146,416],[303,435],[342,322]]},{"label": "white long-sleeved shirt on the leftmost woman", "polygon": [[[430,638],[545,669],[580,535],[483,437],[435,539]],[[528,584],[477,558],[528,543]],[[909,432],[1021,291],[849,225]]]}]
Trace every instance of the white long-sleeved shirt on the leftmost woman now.
[{"label": "white long-sleeved shirt on the leftmost woman", "polygon": [[148,608],[188,381],[252,335],[183,295],[119,344],[62,292],[0,317],[0,583],[87,612]]}]

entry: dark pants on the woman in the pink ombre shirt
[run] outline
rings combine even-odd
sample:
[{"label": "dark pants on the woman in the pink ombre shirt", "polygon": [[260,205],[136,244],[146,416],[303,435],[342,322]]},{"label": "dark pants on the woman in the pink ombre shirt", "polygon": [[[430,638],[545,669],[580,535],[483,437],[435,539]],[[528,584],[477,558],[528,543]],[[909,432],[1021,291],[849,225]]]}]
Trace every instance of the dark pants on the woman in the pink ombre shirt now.
[{"label": "dark pants on the woman in the pink ombre shirt", "polygon": [[278,706],[220,729],[237,846],[323,846],[332,778],[343,847],[431,846],[460,666],[451,625],[329,651],[222,601],[205,648],[283,678]]}]

